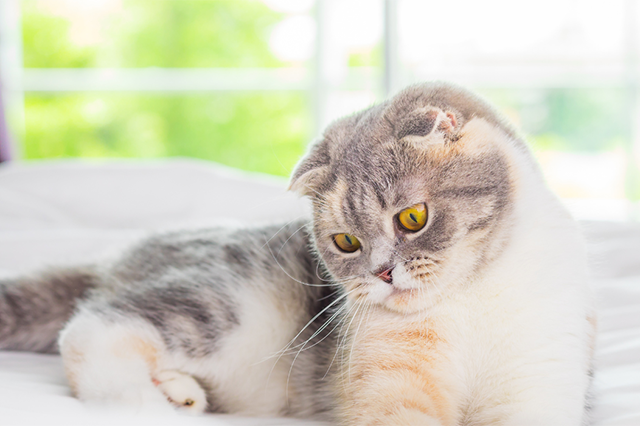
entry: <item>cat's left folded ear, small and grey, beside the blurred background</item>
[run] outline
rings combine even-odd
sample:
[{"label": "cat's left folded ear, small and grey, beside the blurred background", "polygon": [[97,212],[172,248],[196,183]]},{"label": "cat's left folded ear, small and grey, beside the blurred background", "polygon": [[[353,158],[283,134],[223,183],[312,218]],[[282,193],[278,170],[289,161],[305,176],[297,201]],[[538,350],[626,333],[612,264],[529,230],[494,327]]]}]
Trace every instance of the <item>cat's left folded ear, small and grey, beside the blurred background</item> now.
[{"label": "cat's left folded ear, small and grey, beside the blurred background", "polygon": [[294,169],[289,190],[300,195],[314,195],[329,175],[329,161],[326,141],[317,142]]}]

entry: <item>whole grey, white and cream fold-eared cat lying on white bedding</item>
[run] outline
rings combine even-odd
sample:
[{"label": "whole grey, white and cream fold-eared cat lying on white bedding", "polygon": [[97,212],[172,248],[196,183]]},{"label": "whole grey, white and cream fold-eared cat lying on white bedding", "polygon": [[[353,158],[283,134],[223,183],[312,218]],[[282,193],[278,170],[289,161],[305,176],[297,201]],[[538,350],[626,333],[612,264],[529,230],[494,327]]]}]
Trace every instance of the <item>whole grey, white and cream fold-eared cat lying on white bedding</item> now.
[{"label": "whole grey, white and cream fold-eared cat lying on white bedding", "polygon": [[0,349],[59,348],[80,399],[155,412],[588,420],[585,245],[486,101],[411,86],[331,124],[290,188],[310,221],[161,234],[0,281]]}]

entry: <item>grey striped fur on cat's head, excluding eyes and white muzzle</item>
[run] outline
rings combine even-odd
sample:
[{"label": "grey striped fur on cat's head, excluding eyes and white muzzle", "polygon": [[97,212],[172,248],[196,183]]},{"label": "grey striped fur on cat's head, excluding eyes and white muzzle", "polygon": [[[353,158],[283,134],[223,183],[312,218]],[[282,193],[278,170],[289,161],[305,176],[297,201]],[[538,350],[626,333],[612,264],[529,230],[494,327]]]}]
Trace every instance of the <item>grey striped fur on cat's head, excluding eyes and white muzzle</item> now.
[{"label": "grey striped fur on cat's head, excluding eyes and white muzzle", "polygon": [[[442,132],[434,133],[442,117],[450,121],[442,122],[442,129],[438,124]],[[440,83],[410,87],[326,130],[299,164],[292,182],[321,164],[322,173],[307,181],[315,186],[305,193],[314,200],[317,250],[334,279],[358,277],[368,282],[381,264],[432,255],[446,259],[465,241],[477,248],[473,254],[477,258],[469,262],[476,268],[499,253],[505,240],[496,235],[508,227],[505,218],[513,197],[509,163],[498,145],[485,144],[478,151],[456,148],[465,143],[465,125],[475,118],[506,133],[507,143],[516,150],[528,150],[488,103]],[[405,138],[409,135],[418,139]],[[419,138],[427,135],[421,145]],[[475,138],[482,140],[485,135]],[[430,218],[424,230],[413,234],[398,224],[397,217],[419,203],[427,205]],[[385,223],[390,218],[394,222]],[[337,227],[336,222],[346,226]],[[360,254],[347,257],[331,250],[334,242],[327,229],[356,236],[362,242]],[[379,246],[392,249],[385,252]],[[374,252],[378,254],[373,256]],[[380,257],[382,252],[387,259]],[[444,261],[439,265],[447,267]],[[456,273],[463,281],[474,272]]]}]

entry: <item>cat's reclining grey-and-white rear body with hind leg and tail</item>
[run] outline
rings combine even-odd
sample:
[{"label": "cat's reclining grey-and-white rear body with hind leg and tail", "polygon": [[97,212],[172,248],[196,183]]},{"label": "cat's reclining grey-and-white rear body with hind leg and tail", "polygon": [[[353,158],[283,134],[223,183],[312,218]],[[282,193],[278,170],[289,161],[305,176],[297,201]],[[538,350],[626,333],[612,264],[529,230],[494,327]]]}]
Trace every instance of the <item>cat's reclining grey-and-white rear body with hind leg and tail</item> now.
[{"label": "cat's reclining grey-and-white rear body with hind leg and tail", "polygon": [[[50,310],[71,306],[82,292],[60,336],[67,377],[80,398],[152,412],[170,408],[157,381],[162,372],[179,371],[207,393],[175,401],[192,399],[188,410],[206,405],[208,411],[257,416],[326,414],[331,399],[323,378],[336,334],[318,329],[339,301],[336,289],[320,278],[305,225],[162,234],[99,269],[0,282],[3,319],[37,312],[30,330],[28,318],[18,326],[0,322],[0,348],[55,351],[59,319],[69,319],[71,311]],[[24,291],[38,282],[57,285],[51,291],[35,285],[38,297],[11,297],[10,288]],[[73,283],[76,292],[59,297],[55,289],[67,288],[63,283]],[[51,318],[56,321],[48,325]],[[294,364],[300,345],[316,332]],[[313,345],[323,338],[323,345]],[[181,387],[188,389],[184,379]]]}]

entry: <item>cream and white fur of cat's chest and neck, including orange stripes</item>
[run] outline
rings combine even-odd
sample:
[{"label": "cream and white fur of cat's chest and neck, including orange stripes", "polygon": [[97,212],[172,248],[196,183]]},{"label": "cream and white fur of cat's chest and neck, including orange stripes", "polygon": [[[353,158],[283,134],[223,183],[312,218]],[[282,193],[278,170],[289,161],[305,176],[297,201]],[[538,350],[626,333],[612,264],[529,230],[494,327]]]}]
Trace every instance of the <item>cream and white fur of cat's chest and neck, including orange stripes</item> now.
[{"label": "cream and white fur of cat's chest and neck, including orange stripes", "polygon": [[[507,135],[481,119],[463,132],[467,152],[490,141],[509,159],[510,244],[467,282],[441,277],[404,313],[384,307],[392,289],[376,284],[345,343],[343,423],[578,426],[595,331],[581,235]],[[399,287],[419,285],[401,265],[393,274]]]}]

